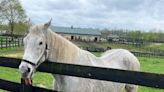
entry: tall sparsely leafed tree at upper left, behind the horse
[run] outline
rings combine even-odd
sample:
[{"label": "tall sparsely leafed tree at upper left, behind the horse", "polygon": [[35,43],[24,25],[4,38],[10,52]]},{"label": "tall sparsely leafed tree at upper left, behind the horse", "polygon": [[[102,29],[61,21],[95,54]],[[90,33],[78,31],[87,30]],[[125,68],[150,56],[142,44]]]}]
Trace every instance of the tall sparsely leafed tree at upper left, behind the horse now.
[{"label": "tall sparsely leafed tree at upper left, behind the horse", "polygon": [[14,33],[14,24],[20,21],[25,21],[26,15],[18,0],[1,0],[0,1],[0,16],[9,24],[10,34]]}]

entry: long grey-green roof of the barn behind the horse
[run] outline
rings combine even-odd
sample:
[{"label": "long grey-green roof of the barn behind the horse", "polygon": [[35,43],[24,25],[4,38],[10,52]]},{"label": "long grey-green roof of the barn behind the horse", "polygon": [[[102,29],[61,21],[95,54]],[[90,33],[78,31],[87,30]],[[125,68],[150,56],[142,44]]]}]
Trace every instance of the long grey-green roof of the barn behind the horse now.
[{"label": "long grey-green roof of the barn behind the horse", "polygon": [[63,34],[96,35],[96,36],[101,35],[99,29],[92,29],[92,28],[73,28],[73,27],[57,27],[57,26],[52,26],[51,28],[54,32],[63,33]]}]

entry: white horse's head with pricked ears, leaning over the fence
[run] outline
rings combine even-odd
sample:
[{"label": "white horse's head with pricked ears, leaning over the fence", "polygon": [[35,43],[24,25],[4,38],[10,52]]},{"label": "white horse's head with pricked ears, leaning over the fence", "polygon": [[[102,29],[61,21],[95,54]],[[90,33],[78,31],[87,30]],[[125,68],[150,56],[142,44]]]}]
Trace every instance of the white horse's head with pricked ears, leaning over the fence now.
[{"label": "white horse's head with pricked ears, leaning over the fence", "polygon": [[47,59],[47,32],[51,24],[31,25],[29,20],[29,30],[24,42],[24,56],[19,71],[22,78],[32,78],[36,68]]}]

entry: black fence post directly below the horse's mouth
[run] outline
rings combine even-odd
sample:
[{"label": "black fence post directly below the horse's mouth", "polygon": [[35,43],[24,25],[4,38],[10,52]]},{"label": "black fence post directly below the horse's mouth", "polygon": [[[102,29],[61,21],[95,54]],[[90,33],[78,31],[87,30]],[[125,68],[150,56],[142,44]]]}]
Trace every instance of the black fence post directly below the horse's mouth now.
[{"label": "black fence post directly below the horse's mouth", "polygon": [[26,85],[23,78],[21,78],[20,92],[33,92],[32,85]]}]

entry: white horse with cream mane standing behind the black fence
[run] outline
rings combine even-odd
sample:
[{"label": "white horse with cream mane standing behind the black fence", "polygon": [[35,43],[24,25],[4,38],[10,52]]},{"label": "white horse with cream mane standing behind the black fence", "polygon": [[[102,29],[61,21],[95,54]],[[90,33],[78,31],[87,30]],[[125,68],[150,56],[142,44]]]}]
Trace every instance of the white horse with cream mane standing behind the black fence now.
[{"label": "white horse with cream mane standing behind the black fence", "polygon": [[[30,23],[29,23],[30,24]],[[19,66],[22,77],[27,84],[36,68],[46,59],[51,62],[90,65],[97,67],[116,68],[139,71],[138,59],[124,49],[112,49],[96,57],[92,53],[78,48],[64,37],[51,31],[48,23],[31,25],[24,38],[24,56]],[[137,86],[125,83],[116,83],[85,79],[64,75],[55,75],[54,89],[64,92],[136,92]]]}]

